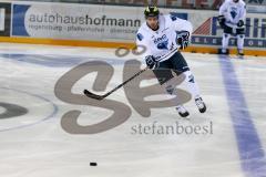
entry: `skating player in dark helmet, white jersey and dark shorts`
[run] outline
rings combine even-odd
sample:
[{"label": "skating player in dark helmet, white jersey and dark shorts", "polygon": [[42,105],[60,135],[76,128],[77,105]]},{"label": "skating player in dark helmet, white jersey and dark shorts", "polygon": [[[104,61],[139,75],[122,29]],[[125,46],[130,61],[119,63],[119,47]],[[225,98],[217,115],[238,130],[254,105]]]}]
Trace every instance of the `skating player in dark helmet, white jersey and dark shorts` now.
[{"label": "skating player in dark helmet, white jersey and dark shorts", "polygon": [[[172,14],[160,14],[156,7],[147,7],[144,11],[146,21],[136,33],[136,45],[145,46],[143,54],[146,65],[153,70],[161,85],[170,95],[176,95],[175,87],[170,81],[175,74],[185,74],[185,84],[193,95],[201,113],[206,111],[206,105],[200,96],[198,86],[180,49],[185,49],[191,39],[192,24],[186,20]],[[161,70],[160,70],[161,69]],[[176,95],[177,96],[177,95]],[[183,105],[176,104],[176,110],[182,117],[190,115]]]}]

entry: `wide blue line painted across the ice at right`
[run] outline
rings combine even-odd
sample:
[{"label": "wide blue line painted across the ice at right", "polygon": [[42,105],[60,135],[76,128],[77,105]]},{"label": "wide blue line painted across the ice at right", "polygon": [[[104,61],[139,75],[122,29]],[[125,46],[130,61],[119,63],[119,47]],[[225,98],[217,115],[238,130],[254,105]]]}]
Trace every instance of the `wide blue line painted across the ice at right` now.
[{"label": "wide blue line painted across the ice at right", "polygon": [[[219,56],[224,85],[235,136],[238,145],[242,169],[247,177],[265,177],[266,158],[256,127],[248,112],[246,100],[228,56]],[[245,61],[243,61],[245,62]],[[232,90],[234,87],[234,90]]]}]

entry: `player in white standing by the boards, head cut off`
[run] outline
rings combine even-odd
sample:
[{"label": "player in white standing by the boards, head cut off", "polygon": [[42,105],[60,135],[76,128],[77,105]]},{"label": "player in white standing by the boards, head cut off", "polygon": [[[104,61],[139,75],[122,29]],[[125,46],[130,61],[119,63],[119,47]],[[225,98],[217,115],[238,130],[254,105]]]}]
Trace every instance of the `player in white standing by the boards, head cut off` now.
[{"label": "player in white standing by the boards, head cut off", "polygon": [[244,55],[246,4],[243,0],[225,0],[219,8],[218,22],[224,29],[222,53],[227,54],[229,38],[237,37],[237,51]]}]

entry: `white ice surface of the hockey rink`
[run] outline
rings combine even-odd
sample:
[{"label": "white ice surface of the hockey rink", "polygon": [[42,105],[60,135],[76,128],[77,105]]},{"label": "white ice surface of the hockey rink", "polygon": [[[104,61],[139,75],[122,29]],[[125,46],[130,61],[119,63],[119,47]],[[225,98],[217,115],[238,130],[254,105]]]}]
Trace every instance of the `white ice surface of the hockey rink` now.
[{"label": "white ice surface of the hockey rink", "polygon": [[[88,105],[57,97],[59,80],[82,63],[104,61],[114,74],[106,90],[98,92],[103,94],[122,82],[124,62],[141,59],[132,52],[117,56],[114,49],[1,43],[0,176],[266,177],[266,58],[184,56],[207,104],[205,114],[191,101],[185,104],[190,118],[181,118],[174,107],[152,108],[143,117],[121,88],[108,98],[125,105],[127,119],[102,133],[72,134],[62,127],[68,112],[81,112],[78,123],[83,126],[103,122],[112,112],[89,105],[82,95],[92,90],[95,73],[72,87]],[[178,125],[188,133],[139,132],[140,125]],[[191,133],[195,127],[205,132]]]}]

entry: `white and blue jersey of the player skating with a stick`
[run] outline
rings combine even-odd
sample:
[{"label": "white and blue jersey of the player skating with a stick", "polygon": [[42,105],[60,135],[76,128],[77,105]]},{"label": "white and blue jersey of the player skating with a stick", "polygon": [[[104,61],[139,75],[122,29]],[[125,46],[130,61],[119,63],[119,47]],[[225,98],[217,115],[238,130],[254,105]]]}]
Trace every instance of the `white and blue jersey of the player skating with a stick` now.
[{"label": "white and blue jersey of the player skating with a stick", "polygon": [[153,55],[157,62],[162,62],[178,51],[180,45],[176,44],[176,37],[181,31],[188,31],[192,34],[191,22],[171,14],[160,14],[158,30],[153,31],[144,22],[136,33],[136,45],[145,48],[144,59],[147,55]]}]

